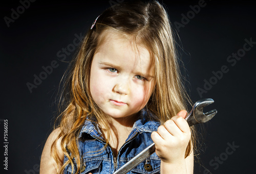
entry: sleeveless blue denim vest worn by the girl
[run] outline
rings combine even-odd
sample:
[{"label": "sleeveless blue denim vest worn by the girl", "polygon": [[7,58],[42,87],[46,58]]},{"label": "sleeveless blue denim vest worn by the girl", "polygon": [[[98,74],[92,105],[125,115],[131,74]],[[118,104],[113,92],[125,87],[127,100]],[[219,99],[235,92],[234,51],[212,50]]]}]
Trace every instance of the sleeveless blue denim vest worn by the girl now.
[{"label": "sleeveless blue denim vest worn by the girl", "polygon": [[[157,118],[153,113],[147,112],[143,108],[139,112],[138,120],[134,123],[132,131],[120,148],[117,157],[114,157],[110,146],[104,148],[105,141],[97,126],[89,120],[85,121],[78,136],[79,153],[82,156],[80,173],[111,174],[116,171],[153,143],[151,133],[157,131],[160,126],[160,123],[156,120]],[[68,158],[65,156],[64,163],[67,160]],[[75,173],[77,170],[76,162],[73,161],[73,163],[75,164],[73,173]],[[154,153],[128,173],[160,173],[160,163],[160,158]],[[72,173],[70,164],[66,166],[64,173]]]}]

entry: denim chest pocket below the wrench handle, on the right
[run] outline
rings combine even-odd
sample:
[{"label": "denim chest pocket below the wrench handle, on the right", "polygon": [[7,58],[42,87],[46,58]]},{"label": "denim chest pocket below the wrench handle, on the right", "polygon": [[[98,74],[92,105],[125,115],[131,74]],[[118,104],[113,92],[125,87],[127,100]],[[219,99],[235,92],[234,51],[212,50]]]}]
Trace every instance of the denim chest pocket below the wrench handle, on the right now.
[{"label": "denim chest pocket below the wrench handle, on the right", "polygon": [[[122,160],[124,162],[124,160]],[[127,162],[127,161],[126,161]],[[124,162],[124,163],[126,163]],[[161,160],[158,157],[148,157],[145,161],[134,167],[131,174],[160,174]]]}]

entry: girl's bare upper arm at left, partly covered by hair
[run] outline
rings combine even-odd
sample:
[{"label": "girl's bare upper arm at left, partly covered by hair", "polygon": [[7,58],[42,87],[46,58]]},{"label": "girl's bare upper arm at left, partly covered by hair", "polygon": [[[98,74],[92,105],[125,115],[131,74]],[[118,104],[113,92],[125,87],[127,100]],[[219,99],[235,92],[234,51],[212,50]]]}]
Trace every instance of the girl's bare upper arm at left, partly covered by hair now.
[{"label": "girl's bare upper arm at left, partly covered by hair", "polygon": [[[57,128],[54,130],[48,137],[44,150],[42,151],[41,155],[41,162],[40,162],[40,174],[56,174],[57,173],[57,163],[55,162],[54,158],[51,156],[51,146],[53,142],[58,138],[60,133],[60,129]],[[64,159],[64,153],[61,150],[60,146],[61,138],[57,140],[56,148],[57,148],[57,155],[62,160]],[[60,169],[62,164],[58,166]]]}]

